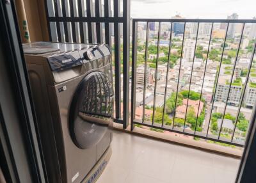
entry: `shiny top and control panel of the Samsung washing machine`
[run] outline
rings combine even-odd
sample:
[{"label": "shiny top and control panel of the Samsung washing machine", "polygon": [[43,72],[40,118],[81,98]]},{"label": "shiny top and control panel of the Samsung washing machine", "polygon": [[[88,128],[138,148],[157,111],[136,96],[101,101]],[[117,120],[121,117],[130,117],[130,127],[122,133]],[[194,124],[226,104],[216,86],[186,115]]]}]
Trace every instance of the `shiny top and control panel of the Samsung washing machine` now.
[{"label": "shiny top and control panel of the Samsung washing machine", "polygon": [[95,61],[111,54],[108,45],[99,44],[35,42],[33,44],[24,44],[23,49],[26,54],[52,52],[50,56],[47,56],[47,61],[52,71],[65,70],[88,62],[84,58],[84,52],[86,51],[92,52],[90,61]]}]

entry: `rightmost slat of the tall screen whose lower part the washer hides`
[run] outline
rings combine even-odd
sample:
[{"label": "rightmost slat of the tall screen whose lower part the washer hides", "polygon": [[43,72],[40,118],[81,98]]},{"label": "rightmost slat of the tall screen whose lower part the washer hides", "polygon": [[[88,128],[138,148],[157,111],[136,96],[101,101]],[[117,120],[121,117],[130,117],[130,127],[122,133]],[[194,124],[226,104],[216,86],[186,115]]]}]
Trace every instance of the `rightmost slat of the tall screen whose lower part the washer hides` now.
[{"label": "rightmost slat of the tall screen whose lower part the washer hides", "polygon": [[[104,17],[109,17],[109,13],[111,12],[110,8],[110,0],[104,0]],[[105,40],[106,44],[109,45],[109,48],[111,50],[111,26],[109,26],[109,23],[105,23]]]}]

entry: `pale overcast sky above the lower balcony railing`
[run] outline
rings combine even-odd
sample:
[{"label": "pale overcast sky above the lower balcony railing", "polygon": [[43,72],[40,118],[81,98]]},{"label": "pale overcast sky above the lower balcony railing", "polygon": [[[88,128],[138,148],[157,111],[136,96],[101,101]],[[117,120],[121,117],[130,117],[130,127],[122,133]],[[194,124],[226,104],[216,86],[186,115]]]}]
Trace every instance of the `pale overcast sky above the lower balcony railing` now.
[{"label": "pale overcast sky above the lower balcony railing", "polygon": [[186,19],[239,19],[256,17],[256,0],[131,0],[132,18],[170,19],[179,14]]}]

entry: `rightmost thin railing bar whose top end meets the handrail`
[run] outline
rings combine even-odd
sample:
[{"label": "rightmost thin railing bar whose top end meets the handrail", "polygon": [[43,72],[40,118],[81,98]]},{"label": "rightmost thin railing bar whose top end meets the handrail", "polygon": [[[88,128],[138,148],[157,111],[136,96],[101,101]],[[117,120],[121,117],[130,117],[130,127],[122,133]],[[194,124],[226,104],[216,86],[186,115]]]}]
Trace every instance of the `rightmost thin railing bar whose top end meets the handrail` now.
[{"label": "rightmost thin railing bar whose top end meets the handrail", "polygon": [[[221,134],[221,129],[222,129],[222,125],[223,125],[223,120],[225,118],[225,113],[226,113],[227,104],[228,104],[228,97],[229,97],[229,93],[230,93],[230,90],[231,90],[234,73],[235,73],[235,70],[236,70],[236,63],[237,63],[237,58],[238,58],[238,55],[239,55],[239,50],[240,50],[241,42],[242,42],[242,39],[243,39],[243,32],[244,32],[244,23],[243,23],[241,38],[239,40],[239,45],[238,45],[237,52],[236,52],[236,60],[235,60],[234,68],[232,70],[232,77],[231,77],[231,81],[230,81],[229,88],[228,88],[228,95],[227,95],[227,100],[226,100],[226,103],[225,103],[224,113],[223,113],[223,116],[222,116],[222,119],[221,119],[220,132],[219,132],[219,135],[218,135],[218,139],[220,139],[220,134]],[[223,45],[223,47],[225,47],[225,44]]]}]

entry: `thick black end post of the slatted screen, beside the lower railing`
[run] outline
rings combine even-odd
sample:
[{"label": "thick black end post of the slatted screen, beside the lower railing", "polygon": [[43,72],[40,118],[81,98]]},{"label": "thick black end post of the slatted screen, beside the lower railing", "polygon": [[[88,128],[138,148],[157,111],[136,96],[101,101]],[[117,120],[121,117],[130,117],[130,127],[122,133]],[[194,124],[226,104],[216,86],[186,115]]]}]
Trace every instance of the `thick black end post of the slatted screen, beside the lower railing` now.
[{"label": "thick black end post of the slatted screen, beside the lower railing", "polygon": [[129,0],[123,1],[123,127],[126,127],[129,124],[129,63],[130,63],[130,2]]}]

